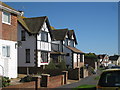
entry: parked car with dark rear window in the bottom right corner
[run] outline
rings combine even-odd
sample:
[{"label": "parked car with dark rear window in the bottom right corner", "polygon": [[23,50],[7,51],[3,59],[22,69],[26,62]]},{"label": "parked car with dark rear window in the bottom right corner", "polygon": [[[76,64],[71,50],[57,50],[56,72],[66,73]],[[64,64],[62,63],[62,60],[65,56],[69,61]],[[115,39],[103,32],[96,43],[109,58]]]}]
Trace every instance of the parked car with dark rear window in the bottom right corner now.
[{"label": "parked car with dark rear window in the bottom right corner", "polygon": [[120,90],[120,69],[104,70],[96,88],[97,90]]}]

